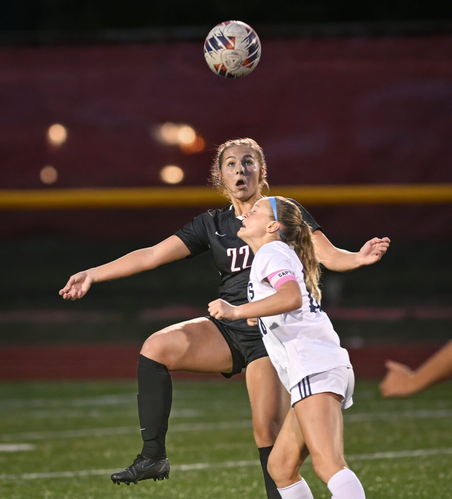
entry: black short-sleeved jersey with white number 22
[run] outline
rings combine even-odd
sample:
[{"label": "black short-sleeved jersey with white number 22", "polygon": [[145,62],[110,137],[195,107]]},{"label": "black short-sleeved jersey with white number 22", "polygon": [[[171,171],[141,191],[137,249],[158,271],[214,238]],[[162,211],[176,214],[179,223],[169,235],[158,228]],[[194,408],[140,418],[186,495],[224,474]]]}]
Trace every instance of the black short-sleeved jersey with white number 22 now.
[{"label": "black short-sleeved jersey with white number 22", "polygon": [[[301,210],[303,220],[312,232],[321,229],[312,216],[296,201]],[[254,254],[250,247],[237,237],[242,227],[242,220],[235,216],[233,205],[222,210],[209,210],[198,215],[175,235],[190,250],[188,258],[209,251],[212,253],[215,266],[221,275],[218,288],[220,298],[232,305],[248,302],[247,288],[251,263]],[[230,324],[230,321],[224,321]],[[246,320],[235,321],[240,329],[253,330]]]}]

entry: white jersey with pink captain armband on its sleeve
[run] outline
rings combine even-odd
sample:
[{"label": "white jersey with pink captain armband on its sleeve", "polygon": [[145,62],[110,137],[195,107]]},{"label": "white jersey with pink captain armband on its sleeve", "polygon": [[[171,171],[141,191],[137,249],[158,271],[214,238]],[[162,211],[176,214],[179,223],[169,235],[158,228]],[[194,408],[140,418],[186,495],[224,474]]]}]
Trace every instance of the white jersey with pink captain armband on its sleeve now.
[{"label": "white jersey with pink captain armband on its sleeve", "polygon": [[282,241],[256,252],[248,284],[249,301],[271,296],[287,280],[300,286],[303,304],[292,312],[258,319],[263,341],[281,382],[290,392],[305,376],[350,364],[327,314],[306,288],[303,265]]}]

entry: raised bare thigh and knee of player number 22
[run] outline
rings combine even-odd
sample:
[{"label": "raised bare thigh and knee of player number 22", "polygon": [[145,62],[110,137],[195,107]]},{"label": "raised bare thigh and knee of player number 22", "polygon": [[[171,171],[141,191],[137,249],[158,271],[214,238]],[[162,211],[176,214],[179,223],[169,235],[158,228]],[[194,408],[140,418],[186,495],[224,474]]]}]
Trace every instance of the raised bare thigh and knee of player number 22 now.
[{"label": "raised bare thigh and knee of player number 22", "polygon": [[207,317],[179,322],[144,342],[142,355],[170,371],[230,372],[232,354],[226,340]]}]

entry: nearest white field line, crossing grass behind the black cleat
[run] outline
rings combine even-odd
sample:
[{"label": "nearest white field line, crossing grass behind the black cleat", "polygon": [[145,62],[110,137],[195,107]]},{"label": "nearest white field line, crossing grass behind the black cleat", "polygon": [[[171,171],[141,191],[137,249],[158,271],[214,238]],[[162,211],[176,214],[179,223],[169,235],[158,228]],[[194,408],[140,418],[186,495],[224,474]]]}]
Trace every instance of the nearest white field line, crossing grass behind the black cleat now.
[{"label": "nearest white field line, crossing grass behind the black cleat", "polygon": [[[376,452],[374,454],[352,454],[346,456],[348,461],[377,460],[377,459],[398,459],[398,458],[418,458],[426,456],[439,456],[442,454],[452,454],[452,448],[445,449],[417,449],[414,451],[394,451]],[[187,465],[175,465],[173,471],[209,470],[213,468],[236,468],[245,466],[260,466],[260,461],[226,461],[223,463],[193,463]],[[17,475],[0,475],[1,480],[36,480],[40,478],[74,478],[88,477],[94,475],[111,475],[117,469],[111,470],[77,470],[47,473],[22,473]]]}]

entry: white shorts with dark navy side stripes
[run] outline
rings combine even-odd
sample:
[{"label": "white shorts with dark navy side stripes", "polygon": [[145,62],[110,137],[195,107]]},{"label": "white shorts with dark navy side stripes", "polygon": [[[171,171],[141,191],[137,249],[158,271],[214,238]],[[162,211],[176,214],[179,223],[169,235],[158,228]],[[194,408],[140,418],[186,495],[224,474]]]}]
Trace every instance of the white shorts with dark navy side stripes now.
[{"label": "white shorts with dark navy side stripes", "polygon": [[331,392],[342,397],[342,409],[348,409],[353,404],[353,390],[355,388],[355,375],[351,367],[341,366],[324,371],[323,373],[310,374],[303,378],[290,390],[291,406],[299,400],[314,395],[315,393]]}]

